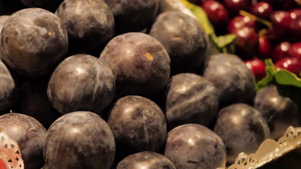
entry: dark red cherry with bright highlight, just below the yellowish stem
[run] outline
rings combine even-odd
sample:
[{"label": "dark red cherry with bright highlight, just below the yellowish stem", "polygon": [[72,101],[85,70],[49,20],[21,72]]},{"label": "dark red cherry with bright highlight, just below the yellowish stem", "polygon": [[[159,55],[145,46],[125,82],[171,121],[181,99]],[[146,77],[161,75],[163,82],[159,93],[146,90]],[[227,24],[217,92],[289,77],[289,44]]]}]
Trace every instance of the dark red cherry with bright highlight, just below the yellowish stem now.
[{"label": "dark red cherry with bright highlight, just below the yellowish stem", "polygon": [[258,49],[258,34],[249,27],[241,27],[235,32],[235,47],[241,57],[252,57]]}]

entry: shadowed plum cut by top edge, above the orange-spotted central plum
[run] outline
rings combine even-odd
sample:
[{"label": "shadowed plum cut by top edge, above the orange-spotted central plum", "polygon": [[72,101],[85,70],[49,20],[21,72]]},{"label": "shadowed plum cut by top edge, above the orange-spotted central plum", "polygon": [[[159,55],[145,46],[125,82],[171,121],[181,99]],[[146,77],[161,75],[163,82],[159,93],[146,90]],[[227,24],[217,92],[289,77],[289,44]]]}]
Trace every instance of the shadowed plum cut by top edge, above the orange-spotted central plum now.
[{"label": "shadowed plum cut by top edge, above the orange-spotted central plum", "polygon": [[111,9],[116,33],[139,32],[151,25],[160,0],[103,0]]}]

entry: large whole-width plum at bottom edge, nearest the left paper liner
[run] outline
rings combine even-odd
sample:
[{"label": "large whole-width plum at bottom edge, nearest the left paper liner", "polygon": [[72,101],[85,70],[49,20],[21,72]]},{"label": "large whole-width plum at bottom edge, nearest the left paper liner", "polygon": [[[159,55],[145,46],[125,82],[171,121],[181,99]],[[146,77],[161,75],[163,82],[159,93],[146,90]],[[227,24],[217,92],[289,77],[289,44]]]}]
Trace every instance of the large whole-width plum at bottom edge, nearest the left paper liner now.
[{"label": "large whole-width plum at bottom edge, nearest the left paper liner", "polygon": [[71,112],[47,131],[43,155],[52,169],[109,169],[115,156],[114,136],[107,123],[93,112]]}]

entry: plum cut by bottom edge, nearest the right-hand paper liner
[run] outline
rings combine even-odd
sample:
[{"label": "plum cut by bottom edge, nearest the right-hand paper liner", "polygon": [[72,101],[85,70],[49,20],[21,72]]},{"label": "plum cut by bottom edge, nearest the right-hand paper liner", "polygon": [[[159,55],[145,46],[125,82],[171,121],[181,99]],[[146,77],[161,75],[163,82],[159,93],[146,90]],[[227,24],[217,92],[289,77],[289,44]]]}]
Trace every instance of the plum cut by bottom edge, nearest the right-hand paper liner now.
[{"label": "plum cut by bottom edge, nearest the right-hand paper liner", "polygon": [[178,169],[216,169],[226,164],[221,138],[199,124],[185,124],[168,132],[164,156]]}]

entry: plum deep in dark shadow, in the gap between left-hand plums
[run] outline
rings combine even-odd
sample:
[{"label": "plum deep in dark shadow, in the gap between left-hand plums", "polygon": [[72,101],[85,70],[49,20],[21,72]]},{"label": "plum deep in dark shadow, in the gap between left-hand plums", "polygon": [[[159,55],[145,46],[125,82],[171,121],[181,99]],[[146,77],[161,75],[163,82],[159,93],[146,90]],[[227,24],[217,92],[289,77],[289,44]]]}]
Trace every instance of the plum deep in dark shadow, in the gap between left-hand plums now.
[{"label": "plum deep in dark shadow, in the gap between left-hand plums", "polygon": [[35,118],[46,129],[61,116],[48,100],[48,80],[43,77],[22,82],[17,104],[18,112]]}]

